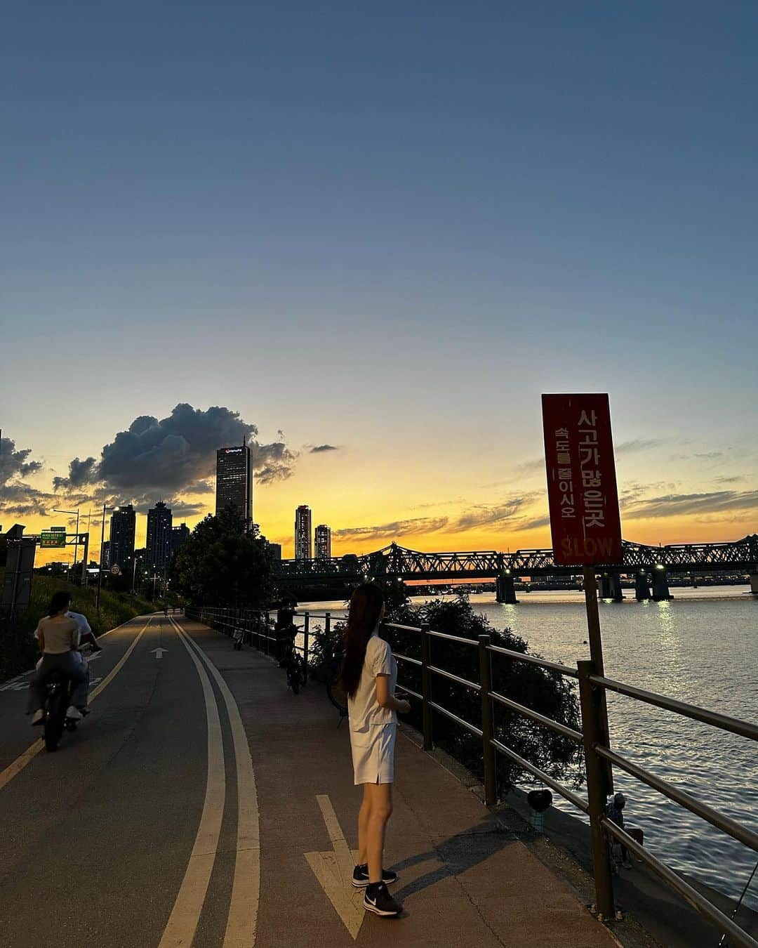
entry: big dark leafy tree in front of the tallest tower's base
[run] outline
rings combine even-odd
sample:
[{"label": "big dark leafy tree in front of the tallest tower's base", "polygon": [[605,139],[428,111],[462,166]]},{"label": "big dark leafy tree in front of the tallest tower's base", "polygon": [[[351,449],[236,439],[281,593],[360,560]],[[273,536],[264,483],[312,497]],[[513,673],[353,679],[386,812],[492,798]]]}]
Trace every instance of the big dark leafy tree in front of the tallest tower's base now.
[{"label": "big dark leafy tree in front of the tallest tower's base", "polygon": [[174,556],[171,590],[195,606],[264,608],[274,593],[268,545],[244,532],[235,507],[209,514]]}]

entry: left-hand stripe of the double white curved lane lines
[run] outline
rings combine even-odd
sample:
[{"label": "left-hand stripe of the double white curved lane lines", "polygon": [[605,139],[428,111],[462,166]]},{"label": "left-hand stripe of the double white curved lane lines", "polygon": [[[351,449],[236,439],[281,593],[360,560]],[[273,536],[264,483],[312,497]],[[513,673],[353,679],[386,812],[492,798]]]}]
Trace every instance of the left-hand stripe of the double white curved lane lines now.
[{"label": "left-hand stripe of the double white curved lane lines", "polygon": [[226,770],[224,766],[224,740],[221,733],[221,720],[213,686],[205,668],[197,660],[193,650],[185,642],[181,632],[179,638],[189,652],[189,657],[197,669],[200,683],[203,685],[203,697],[206,702],[206,721],[208,724],[208,777],[206,781],[206,799],[203,813],[197,828],[195,843],[189,854],[187,871],[173,903],[171,916],[166,924],[163,938],[158,948],[189,948],[200,921],[203,902],[208,893],[208,882],[216,851],[219,846],[221,821],[224,816],[226,800]]}]

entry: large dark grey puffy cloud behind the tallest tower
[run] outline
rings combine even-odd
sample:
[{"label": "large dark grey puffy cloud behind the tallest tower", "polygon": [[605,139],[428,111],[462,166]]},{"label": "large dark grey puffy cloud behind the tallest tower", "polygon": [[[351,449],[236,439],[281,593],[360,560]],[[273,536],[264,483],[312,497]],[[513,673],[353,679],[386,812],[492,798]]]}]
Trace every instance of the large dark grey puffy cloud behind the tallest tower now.
[{"label": "large dark grey puffy cloud behind the tallest tower", "polygon": [[239,411],[220,406],[207,410],[180,403],[167,418],[140,415],[125,431],[118,431],[105,445],[99,460],[78,457],[68,465],[68,476],[54,480],[57,490],[96,484],[122,498],[140,499],[175,496],[178,493],[208,493],[207,478],[215,475],[216,450],[240,445],[252,448],[253,467],[259,483],[290,477],[298,454],[279,440],[265,445],[257,439],[258,428],[245,422]]}]

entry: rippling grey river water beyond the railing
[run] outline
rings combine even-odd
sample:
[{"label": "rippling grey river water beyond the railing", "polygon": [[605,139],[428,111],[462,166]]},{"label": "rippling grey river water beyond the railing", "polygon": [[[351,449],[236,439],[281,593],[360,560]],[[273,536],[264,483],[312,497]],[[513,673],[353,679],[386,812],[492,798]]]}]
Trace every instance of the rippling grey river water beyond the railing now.
[{"label": "rippling grey river water beyond the railing", "polygon": [[[625,591],[623,603],[601,604],[605,673],[722,714],[758,719],[758,596],[729,586],[673,593],[671,602],[638,603]],[[493,593],[470,599],[496,629],[510,627],[526,639],[530,651],[574,666],[588,658],[582,593],[518,596],[516,606],[497,603]],[[306,609],[345,614],[342,602],[298,607]],[[609,694],[608,719],[620,754],[758,831],[754,742],[620,695]],[[651,852],[739,897],[758,855],[633,777],[619,772],[615,781],[627,798],[627,824],[644,830]],[[561,798],[556,805],[577,814]],[[745,902],[758,909],[758,874]]]}]

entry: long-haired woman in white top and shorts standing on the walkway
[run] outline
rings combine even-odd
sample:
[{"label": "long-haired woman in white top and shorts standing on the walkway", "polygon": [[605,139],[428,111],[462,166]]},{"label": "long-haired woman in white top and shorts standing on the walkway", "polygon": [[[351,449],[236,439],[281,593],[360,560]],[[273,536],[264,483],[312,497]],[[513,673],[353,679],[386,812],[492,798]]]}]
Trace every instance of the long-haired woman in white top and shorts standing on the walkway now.
[{"label": "long-haired woman in white top and shorts standing on the walkway", "polygon": [[366,889],[364,908],[391,918],[403,906],[387,887],[397,882],[397,873],[384,868],[385,830],[392,814],[397,713],[407,714],[410,704],[394,696],[397,663],[388,643],[379,638],[384,614],[378,586],[367,583],[352,593],[342,684],[348,695],[355,785],[363,784],[352,884]]}]

